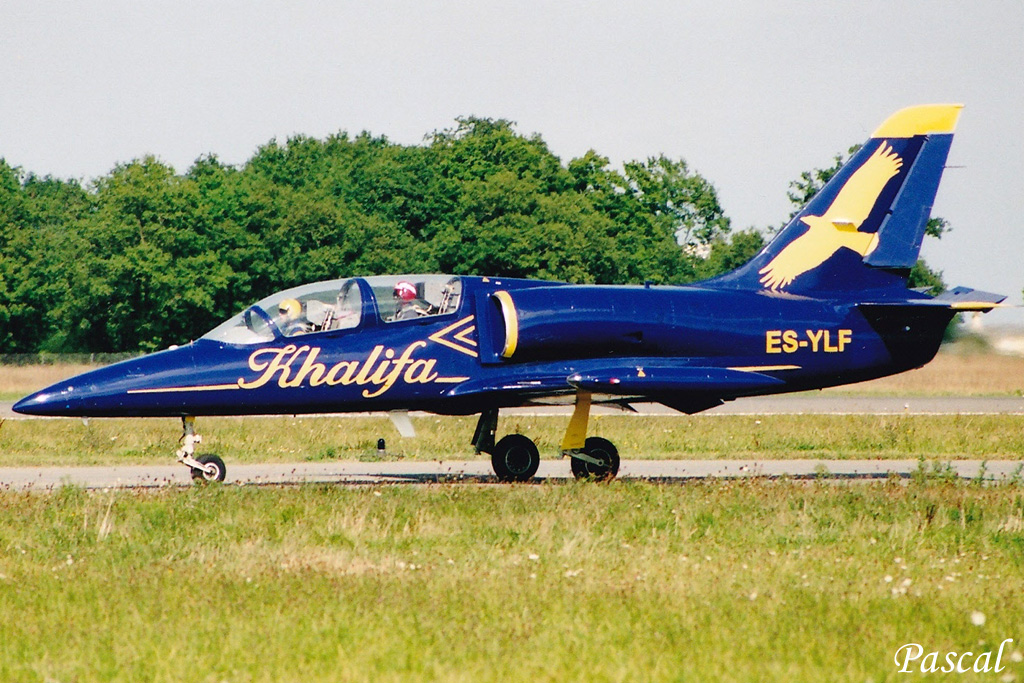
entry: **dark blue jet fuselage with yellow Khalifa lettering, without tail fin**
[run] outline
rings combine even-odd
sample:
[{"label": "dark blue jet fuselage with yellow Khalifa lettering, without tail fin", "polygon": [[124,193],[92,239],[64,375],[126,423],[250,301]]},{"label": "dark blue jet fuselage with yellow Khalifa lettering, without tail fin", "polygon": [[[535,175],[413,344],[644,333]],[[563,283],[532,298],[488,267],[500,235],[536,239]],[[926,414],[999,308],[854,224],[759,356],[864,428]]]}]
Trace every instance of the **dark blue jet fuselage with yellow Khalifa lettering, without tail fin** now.
[{"label": "dark blue jet fuselage with yellow Khalifa lettering, without tail fin", "polygon": [[[616,397],[695,412],[924,365],[951,317],[946,309],[886,315],[842,297],[770,290],[464,276],[449,280],[459,286],[456,302],[403,318],[375,279],[337,283],[357,288],[356,322],[347,327],[286,334],[271,326],[252,340],[208,335],[58,382],[14,410],[83,417],[472,414],[570,395],[570,376],[626,369],[647,378],[656,373],[644,369],[653,369],[668,379],[648,389],[634,378]],[[247,313],[250,328],[253,317]],[[707,381],[694,381],[706,370]]]}]

